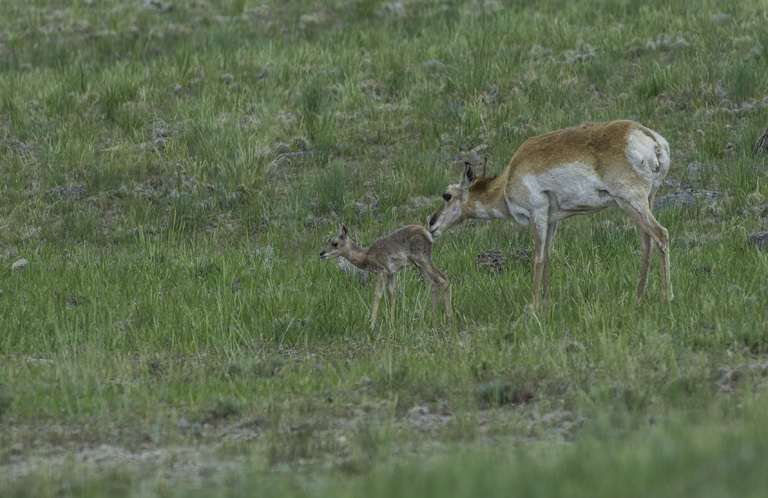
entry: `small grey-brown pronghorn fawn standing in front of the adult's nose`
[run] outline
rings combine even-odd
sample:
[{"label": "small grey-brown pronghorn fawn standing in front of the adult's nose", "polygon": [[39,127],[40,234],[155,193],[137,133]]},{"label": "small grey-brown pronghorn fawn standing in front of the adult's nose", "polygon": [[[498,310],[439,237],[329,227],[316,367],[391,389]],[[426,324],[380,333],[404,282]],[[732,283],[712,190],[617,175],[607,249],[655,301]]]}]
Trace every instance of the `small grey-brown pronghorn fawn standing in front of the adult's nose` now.
[{"label": "small grey-brown pronghorn fawn standing in front of the adult's nose", "polygon": [[361,270],[376,273],[379,276],[376,283],[376,292],[373,297],[373,310],[371,311],[371,330],[376,324],[376,312],[379,309],[379,301],[387,284],[387,297],[391,318],[395,317],[395,273],[403,269],[408,263],[419,267],[424,278],[432,286],[432,307],[438,313],[438,301],[440,289],[445,294],[445,317],[447,324],[451,321],[451,288],[448,277],[440,271],[432,262],[432,234],[418,225],[408,225],[395,232],[377,239],[369,247],[359,246],[347,232],[347,227],[338,224],[339,233],[328,247],[320,253],[320,259],[338,258],[341,256]]}]

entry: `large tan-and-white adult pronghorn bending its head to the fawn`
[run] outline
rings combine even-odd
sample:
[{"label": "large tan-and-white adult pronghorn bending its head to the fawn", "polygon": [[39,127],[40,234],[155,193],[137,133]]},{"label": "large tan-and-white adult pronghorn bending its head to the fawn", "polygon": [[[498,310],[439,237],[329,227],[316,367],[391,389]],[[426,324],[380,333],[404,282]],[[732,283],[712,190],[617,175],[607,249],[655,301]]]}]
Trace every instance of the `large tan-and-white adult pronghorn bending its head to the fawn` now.
[{"label": "large tan-and-white adult pronghorn bending its head to the fawn", "polygon": [[[461,182],[450,185],[445,202],[429,220],[439,236],[466,219],[514,218],[533,228],[533,304],[539,287],[549,298],[549,255],[560,220],[619,205],[637,225],[642,258],[637,299],[643,296],[651,239],[659,250],[661,283],[672,299],[669,235],[651,213],[656,190],[669,170],[669,144],[634,121],[610,121],[529,138],[499,176],[477,176],[471,164]],[[542,285],[543,277],[543,285]]]}]

